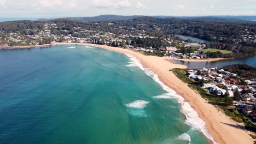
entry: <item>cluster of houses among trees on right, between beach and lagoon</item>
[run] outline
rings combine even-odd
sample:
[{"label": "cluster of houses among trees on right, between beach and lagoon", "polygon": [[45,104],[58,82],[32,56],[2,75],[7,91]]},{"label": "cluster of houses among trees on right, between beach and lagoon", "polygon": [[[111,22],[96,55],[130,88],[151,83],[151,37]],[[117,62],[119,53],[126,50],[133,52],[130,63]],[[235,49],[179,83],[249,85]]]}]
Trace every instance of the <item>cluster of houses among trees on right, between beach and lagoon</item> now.
[{"label": "cluster of houses among trees on right, between beach and lagoon", "polygon": [[[174,73],[190,87],[198,91],[203,98],[216,104],[236,122],[246,123],[246,128],[254,130],[256,125],[256,79],[253,76],[241,76],[229,70],[235,66],[224,68],[199,68],[174,70]],[[240,69],[244,65],[238,65]],[[246,68],[247,69],[247,68]],[[232,69],[234,71],[234,69]],[[249,70],[249,67],[247,69]],[[184,77],[184,76],[185,77]],[[187,77],[187,78],[186,78]]]}]

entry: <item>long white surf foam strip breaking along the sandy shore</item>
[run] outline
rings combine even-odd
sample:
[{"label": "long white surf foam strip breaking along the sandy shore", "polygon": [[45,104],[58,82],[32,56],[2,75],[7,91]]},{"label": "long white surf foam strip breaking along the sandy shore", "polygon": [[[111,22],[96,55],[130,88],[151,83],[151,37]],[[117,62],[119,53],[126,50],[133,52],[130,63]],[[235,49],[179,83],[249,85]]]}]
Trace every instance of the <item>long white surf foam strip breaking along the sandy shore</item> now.
[{"label": "long white surf foam strip breaking along the sandy shore", "polygon": [[166,86],[162,81],[159,80],[158,75],[156,75],[152,70],[143,68],[143,65],[141,62],[134,56],[130,54],[126,54],[127,57],[131,59],[131,61],[137,65],[140,69],[142,69],[148,76],[152,77],[153,80],[159,83],[161,87],[168,92],[172,97],[174,97],[178,103],[181,105],[181,112],[184,113],[185,117],[187,118],[185,120],[186,123],[191,125],[195,129],[199,129],[202,131],[202,133],[210,139],[213,143],[217,143],[212,135],[208,132],[205,126],[205,122],[199,117],[198,113],[189,105],[189,103],[184,102],[184,98],[181,97],[181,95],[178,95],[173,89]]}]

